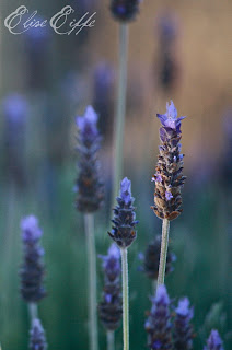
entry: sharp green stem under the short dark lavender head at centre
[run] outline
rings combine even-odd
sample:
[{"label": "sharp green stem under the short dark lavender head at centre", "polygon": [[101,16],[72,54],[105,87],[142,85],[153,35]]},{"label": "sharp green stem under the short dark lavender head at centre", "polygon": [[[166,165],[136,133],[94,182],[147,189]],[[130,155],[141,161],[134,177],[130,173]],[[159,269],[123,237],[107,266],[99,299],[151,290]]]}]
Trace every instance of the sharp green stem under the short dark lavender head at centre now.
[{"label": "sharp green stem under the short dark lavender head at centre", "polygon": [[129,285],[127,248],[120,249],[123,270],[123,318],[124,318],[124,350],[129,350]]}]

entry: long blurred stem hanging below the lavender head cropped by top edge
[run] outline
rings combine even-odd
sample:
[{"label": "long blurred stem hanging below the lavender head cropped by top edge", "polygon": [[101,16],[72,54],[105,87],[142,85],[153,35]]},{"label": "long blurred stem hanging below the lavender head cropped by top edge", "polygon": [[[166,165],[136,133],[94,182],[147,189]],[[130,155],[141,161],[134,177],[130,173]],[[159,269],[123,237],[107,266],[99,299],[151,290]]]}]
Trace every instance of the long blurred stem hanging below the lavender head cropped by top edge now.
[{"label": "long blurred stem hanging below the lavender head cropped by top edge", "polygon": [[114,128],[114,190],[113,206],[115,198],[118,196],[119,182],[123,176],[124,161],[124,126],[126,113],[126,92],[127,92],[127,52],[128,51],[128,24],[119,25],[119,69],[118,69],[118,86],[115,110],[115,128]]}]

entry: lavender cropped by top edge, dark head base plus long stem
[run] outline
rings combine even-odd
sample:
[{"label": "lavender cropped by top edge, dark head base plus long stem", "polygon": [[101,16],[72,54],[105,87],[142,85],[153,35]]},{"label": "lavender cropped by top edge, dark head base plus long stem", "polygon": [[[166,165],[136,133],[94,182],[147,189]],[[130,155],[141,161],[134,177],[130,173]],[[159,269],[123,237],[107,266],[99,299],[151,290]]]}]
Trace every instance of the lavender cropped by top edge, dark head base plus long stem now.
[{"label": "lavender cropped by top edge, dark head base plus long stem", "polygon": [[113,18],[119,22],[119,67],[118,88],[115,108],[114,128],[114,189],[113,206],[118,194],[119,180],[123,177],[123,151],[124,151],[124,127],[126,112],[127,92],[127,59],[128,59],[128,22],[132,21],[139,12],[139,0],[111,0],[111,12]]}]

